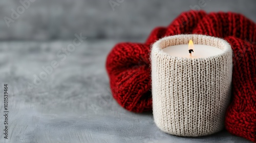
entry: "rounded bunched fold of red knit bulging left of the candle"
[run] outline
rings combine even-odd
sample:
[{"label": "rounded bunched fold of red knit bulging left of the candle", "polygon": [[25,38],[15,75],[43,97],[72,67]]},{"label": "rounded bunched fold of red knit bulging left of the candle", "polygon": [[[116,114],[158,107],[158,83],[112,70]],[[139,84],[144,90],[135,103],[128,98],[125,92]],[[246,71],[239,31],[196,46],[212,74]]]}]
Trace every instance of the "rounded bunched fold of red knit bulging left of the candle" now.
[{"label": "rounded bunched fold of red knit bulging left of the candle", "polygon": [[117,44],[106,61],[113,97],[127,110],[152,110],[149,49],[143,44]]}]

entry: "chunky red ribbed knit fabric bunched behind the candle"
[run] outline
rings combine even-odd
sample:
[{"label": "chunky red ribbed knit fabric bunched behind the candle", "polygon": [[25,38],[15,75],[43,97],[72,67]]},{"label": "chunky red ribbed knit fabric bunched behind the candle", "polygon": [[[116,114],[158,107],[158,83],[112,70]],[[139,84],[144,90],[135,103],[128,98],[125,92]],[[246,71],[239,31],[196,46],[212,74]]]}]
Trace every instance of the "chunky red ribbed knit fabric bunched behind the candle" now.
[{"label": "chunky red ribbed knit fabric bunched behind the candle", "polygon": [[106,59],[113,97],[129,111],[151,111],[150,46],[162,37],[177,34],[204,34],[230,43],[232,99],[225,127],[256,142],[256,24],[241,14],[184,12],[168,27],[154,29],[145,43],[117,44]]}]

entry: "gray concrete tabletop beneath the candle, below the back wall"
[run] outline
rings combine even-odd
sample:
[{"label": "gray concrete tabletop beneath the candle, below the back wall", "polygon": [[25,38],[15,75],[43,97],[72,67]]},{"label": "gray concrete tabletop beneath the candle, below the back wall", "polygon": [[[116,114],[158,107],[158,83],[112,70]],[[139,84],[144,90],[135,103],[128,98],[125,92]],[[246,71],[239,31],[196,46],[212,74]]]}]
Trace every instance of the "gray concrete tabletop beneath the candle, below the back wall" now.
[{"label": "gray concrete tabletop beneath the candle, below the back wall", "polygon": [[[104,67],[116,42],[84,41],[63,61],[56,54],[72,41],[0,42],[0,142],[250,142],[227,131],[194,138],[169,135],[156,127],[152,113],[124,110],[112,98]],[[59,66],[28,88],[53,60]],[[4,84],[9,87],[8,139]]]}]

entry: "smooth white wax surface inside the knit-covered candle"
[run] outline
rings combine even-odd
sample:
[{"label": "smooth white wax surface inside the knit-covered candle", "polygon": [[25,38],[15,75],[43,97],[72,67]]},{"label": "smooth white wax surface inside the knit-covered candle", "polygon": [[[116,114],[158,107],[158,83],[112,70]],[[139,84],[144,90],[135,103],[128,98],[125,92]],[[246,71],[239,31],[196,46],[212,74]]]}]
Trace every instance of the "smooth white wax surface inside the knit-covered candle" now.
[{"label": "smooth white wax surface inside the knit-covered candle", "polygon": [[191,57],[188,53],[188,44],[167,46],[163,49],[163,52],[174,57],[182,58],[207,58],[223,53],[218,47],[201,44],[194,44],[194,52],[192,52]]}]

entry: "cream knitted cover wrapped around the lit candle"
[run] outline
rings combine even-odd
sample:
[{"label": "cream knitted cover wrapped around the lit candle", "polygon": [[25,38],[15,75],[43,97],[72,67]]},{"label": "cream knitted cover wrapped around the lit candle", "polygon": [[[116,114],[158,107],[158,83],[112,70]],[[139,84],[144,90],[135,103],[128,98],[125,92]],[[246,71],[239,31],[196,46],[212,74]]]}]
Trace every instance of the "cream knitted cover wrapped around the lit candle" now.
[{"label": "cream knitted cover wrapped around the lit candle", "polygon": [[[170,45],[187,44],[189,39],[218,47],[223,53],[193,59],[162,51]],[[168,36],[153,44],[151,63],[153,114],[162,131],[202,136],[224,128],[232,79],[232,50],[225,40],[195,34]]]}]

